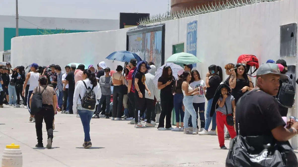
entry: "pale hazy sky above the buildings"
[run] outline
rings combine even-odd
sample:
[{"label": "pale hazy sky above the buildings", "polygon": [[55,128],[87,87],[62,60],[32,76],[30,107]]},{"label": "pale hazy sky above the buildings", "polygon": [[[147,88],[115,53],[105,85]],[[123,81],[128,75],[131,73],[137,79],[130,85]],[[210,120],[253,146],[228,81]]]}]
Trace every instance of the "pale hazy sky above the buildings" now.
[{"label": "pale hazy sky above the buildings", "polygon": [[[150,13],[168,10],[169,0],[18,0],[20,16],[119,19],[120,12]],[[0,0],[0,15],[15,15],[15,0]]]}]

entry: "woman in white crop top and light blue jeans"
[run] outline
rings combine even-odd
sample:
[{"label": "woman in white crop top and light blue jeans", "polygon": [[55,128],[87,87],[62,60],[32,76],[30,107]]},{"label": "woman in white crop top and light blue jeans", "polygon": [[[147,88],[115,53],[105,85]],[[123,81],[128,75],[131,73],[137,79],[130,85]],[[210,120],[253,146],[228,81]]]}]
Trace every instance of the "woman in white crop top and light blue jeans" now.
[{"label": "woman in white crop top and light blue jeans", "polygon": [[188,127],[188,124],[184,124],[184,134],[192,133],[193,135],[197,134],[197,125],[196,125],[196,114],[195,108],[193,108],[193,96],[199,94],[199,88],[193,89],[190,86],[191,74],[189,71],[184,71],[182,74],[182,92],[183,92],[183,105],[184,105],[184,121],[188,122],[190,115],[192,116],[193,127]]}]

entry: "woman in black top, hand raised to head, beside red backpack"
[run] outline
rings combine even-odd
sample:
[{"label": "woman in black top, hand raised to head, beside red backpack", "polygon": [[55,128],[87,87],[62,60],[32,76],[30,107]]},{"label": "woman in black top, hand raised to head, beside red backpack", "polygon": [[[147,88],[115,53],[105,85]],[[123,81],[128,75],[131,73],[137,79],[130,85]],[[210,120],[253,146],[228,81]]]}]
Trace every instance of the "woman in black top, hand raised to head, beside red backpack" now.
[{"label": "woman in black top, hand raised to head, beside red backpack", "polygon": [[235,104],[239,98],[246,92],[254,88],[252,78],[246,73],[246,64],[238,63],[237,70],[232,69],[232,77],[229,80],[229,85],[232,88],[232,95],[235,98]]}]

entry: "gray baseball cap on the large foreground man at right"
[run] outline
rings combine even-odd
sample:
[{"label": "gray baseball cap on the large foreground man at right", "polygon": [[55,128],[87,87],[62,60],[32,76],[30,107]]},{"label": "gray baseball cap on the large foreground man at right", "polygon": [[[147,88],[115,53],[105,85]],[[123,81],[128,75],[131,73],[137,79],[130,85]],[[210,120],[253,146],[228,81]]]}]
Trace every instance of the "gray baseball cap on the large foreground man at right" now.
[{"label": "gray baseball cap on the large foreground man at right", "polygon": [[257,70],[257,76],[258,75],[265,75],[265,74],[277,74],[277,75],[280,75],[280,79],[287,79],[288,78],[287,75],[280,73],[278,65],[274,64],[274,63],[262,64],[259,67],[259,69]]}]

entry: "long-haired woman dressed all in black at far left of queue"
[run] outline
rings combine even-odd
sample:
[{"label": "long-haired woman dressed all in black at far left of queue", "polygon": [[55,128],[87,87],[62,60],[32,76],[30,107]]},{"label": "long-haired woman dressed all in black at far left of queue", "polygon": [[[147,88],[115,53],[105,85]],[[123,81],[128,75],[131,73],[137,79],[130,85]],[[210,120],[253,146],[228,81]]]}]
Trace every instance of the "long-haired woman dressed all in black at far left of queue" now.
[{"label": "long-haired woman dressed all in black at far left of queue", "polygon": [[13,70],[13,74],[11,75],[12,78],[15,78],[15,92],[17,94],[16,108],[24,107],[24,104],[20,105],[20,97],[22,98],[23,102],[25,102],[24,96],[22,95],[23,85],[26,79],[24,69],[24,66],[18,66]]}]

